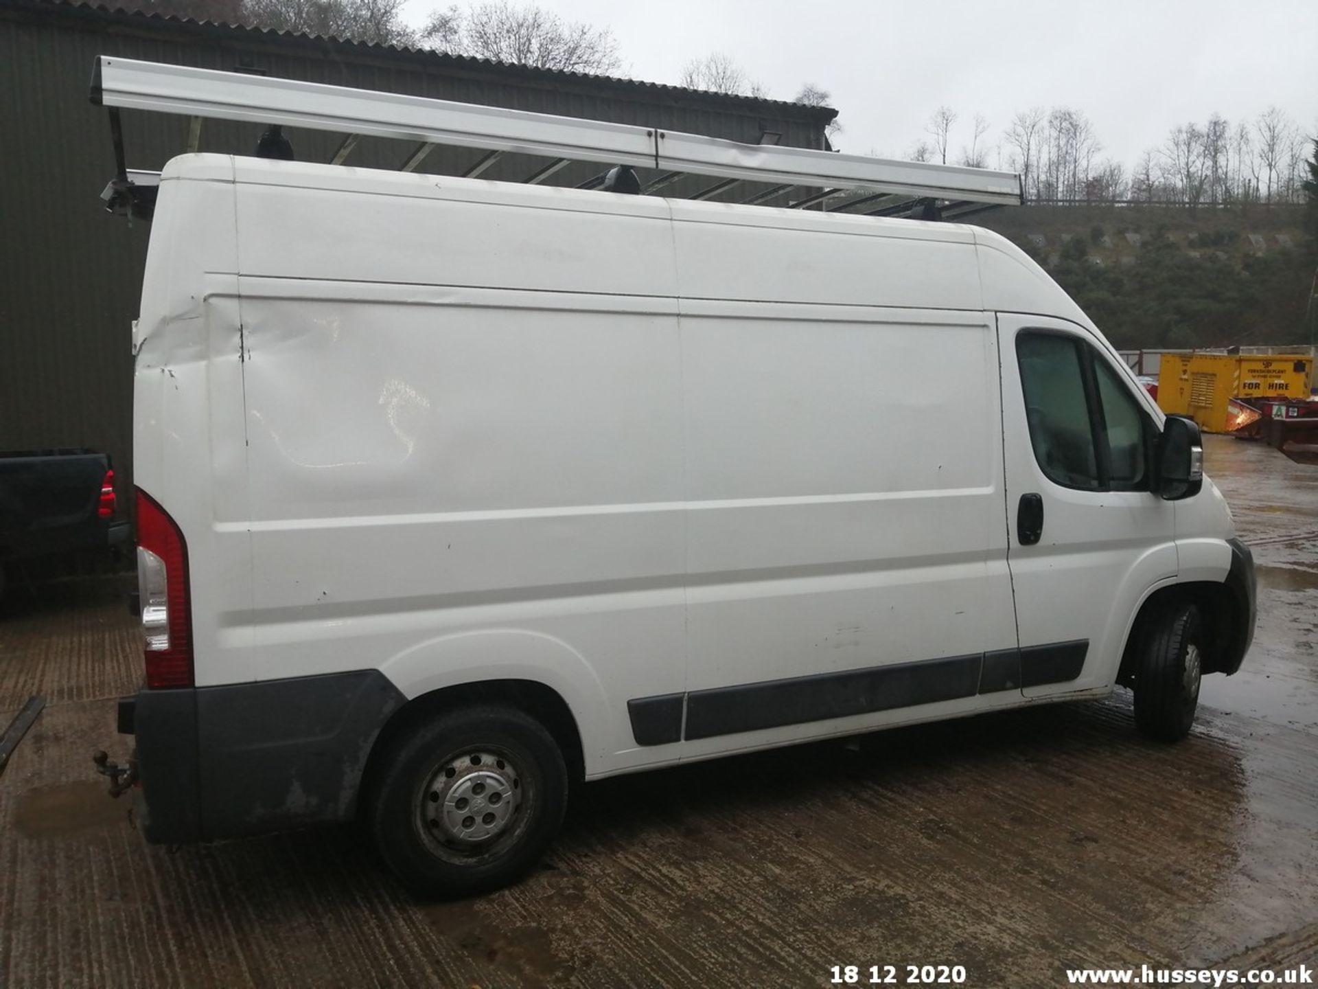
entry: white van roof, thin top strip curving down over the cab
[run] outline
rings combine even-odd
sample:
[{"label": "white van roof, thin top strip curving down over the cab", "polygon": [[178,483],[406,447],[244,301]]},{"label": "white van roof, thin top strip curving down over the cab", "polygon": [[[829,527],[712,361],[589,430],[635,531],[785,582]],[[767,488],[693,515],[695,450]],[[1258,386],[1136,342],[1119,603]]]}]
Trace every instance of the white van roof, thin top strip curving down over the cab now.
[{"label": "white van roof, thin top strip curving down over the cab", "polygon": [[[319,162],[275,161],[232,154],[181,154],[170,160],[161,182],[178,179],[239,182],[365,195],[451,199],[738,227],[832,232],[907,241],[965,244],[977,249],[983,307],[999,313],[1035,313],[1094,328],[1074,301],[1019,247],[992,231],[962,223],[923,222],[817,212],[741,203],[616,195],[594,190],[496,182],[423,173],[387,171]],[[931,302],[931,307],[936,307]]]}]

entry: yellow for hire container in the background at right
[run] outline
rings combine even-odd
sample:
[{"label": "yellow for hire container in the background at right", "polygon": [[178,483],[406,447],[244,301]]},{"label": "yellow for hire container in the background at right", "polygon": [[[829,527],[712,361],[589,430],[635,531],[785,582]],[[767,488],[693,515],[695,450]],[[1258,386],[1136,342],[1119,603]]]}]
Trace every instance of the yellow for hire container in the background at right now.
[{"label": "yellow for hire container in the background at right", "polygon": [[1243,425],[1242,405],[1261,411],[1264,400],[1307,400],[1313,373],[1307,353],[1164,353],[1157,404],[1169,415],[1191,417],[1206,433],[1231,433]]}]

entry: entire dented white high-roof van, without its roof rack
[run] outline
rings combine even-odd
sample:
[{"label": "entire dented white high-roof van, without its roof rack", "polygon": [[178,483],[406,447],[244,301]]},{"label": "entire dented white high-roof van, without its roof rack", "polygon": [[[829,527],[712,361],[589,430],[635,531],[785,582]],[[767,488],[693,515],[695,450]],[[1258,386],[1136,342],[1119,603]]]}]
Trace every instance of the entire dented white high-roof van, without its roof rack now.
[{"label": "entire dented white high-roof van, without its roof rack", "polygon": [[1194,425],[983,229],[187,154],[134,348],[152,841],[464,894],[581,781],[1115,684],[1180,738],[1252,637]]}]

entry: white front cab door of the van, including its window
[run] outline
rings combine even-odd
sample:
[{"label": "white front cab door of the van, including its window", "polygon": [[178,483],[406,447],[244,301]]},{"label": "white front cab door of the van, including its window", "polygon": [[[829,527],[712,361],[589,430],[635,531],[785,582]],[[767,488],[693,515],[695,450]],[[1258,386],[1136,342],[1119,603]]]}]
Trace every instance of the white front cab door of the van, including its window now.
[{"label": "white front cab door of the van, including its window", "polygon": [[1156,427],[1130,372],[1074,323],[998,315],[1008,566],[1025,696],[1110,684],[1144,592],[1174,579]]}]

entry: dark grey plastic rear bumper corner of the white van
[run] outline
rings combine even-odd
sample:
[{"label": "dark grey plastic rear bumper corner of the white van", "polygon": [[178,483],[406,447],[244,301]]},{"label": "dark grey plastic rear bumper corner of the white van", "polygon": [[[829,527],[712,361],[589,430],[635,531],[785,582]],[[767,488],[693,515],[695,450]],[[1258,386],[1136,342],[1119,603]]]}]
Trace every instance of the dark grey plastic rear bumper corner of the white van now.
[{"label": "dark grey plastic rear bumper corner of the white van", "polygon": [[405,700],[378,670],[124,698],[142,833],[182,844],[352,818],[370,748]]}]

